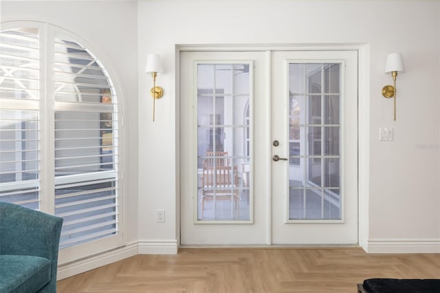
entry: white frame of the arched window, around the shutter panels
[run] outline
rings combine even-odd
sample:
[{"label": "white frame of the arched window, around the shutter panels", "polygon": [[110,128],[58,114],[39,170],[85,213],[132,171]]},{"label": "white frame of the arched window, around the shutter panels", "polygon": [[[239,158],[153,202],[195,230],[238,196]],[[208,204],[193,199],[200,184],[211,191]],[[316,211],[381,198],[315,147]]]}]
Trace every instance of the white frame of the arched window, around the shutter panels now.
[{"label": "white frame of the arched window, around the shutter panels", "polygon": [[[55,146],[54,146],[54,113],[58,110],[55,106],[54,97],[54,40],[55,38],[67,38],[72,39],[77,43],[80,43],[88,52],[92,52],[94,56],[99,60],[96,61],[107,73],[109,80],[113,85],[112,89],[115,91],[115,96],[118,97],[117,102],[112,105],[118,109],[118,161],[119,166],[117,171],[104,171],[102,173],[116,173],[116,181],[119,184],[120,193],[117,196],[117,210],[116,217],[118,217],[118,233],[110,237],[94,240],[87,243],[82,243],[77,246],[69,248],[63,248],[59,252],[58,265],[63,265],[83,259],[91,255],[105,252],[123,246],[127,242],[126,237],[126,184],[124,180],[124,170],[126,170],[126,152],[124,146],[126,145],[125,138],[125,126],[124,126],[124,95],[119,86],[118,74],[116,74],[114,67],[112,66],[110,58],[104,54],[98,47],[89,43],[80,36],[69,32],[57,25],[40,21],[5,21],[1,23],[1,31],[12,30],[14,28],[35,28],[39,30],[39,62],[40,62],[40,75],[39,75],[39,116],[40,116],[40,192],[39,192],[39,210],[54,215],[55,211]],[[105,65],[105,66],[103,66]],[[21,101],[19,101],[21,102]],[[61,107],[71,107],[65,102],[57,102]],[[109,107],[110,105],[102,105],[103,107]],[[78,105],[80,108],[81,105]],[[84,106],[83,106],[84,107]],[[69,108],[72,110],[72,108]],[[104,174],[100,175],[101,177]],[[66,180],[66,179],[64,179]],[[58,180],[59,181],[59,180]],[[27,184],[26,182],[19,182],[17,184]]]}]

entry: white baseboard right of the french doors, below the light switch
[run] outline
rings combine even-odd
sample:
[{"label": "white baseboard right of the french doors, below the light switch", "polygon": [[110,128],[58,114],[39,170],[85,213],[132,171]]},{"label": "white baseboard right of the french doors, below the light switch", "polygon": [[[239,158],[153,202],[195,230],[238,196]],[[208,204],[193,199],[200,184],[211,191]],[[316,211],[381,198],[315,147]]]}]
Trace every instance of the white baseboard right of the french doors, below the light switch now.
[{"label": "white baseboard right of the french doors, below the light switch", "polygon": [[440,253],[440,239],[368,239],[364,250],[368,253]]}]

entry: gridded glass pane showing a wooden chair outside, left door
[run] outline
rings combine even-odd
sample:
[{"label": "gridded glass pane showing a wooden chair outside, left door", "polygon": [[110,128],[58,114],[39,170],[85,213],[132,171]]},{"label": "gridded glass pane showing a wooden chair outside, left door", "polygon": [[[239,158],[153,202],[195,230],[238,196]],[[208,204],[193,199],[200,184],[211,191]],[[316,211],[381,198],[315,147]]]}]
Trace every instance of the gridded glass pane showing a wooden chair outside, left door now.
[{"label": "gridded glass pane showing a wooden chair outside, left door", "polygon": [[197,219],[250,220],[249,64],[197,65]]}]

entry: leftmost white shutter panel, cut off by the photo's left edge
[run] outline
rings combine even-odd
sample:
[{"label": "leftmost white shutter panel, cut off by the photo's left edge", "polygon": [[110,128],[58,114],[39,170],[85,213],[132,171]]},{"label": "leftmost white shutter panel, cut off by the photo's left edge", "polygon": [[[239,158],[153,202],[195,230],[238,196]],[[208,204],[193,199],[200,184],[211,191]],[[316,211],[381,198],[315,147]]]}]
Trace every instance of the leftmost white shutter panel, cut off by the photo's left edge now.
[{"label": "leftmost white shutter panel, cut off by the photo's left edge", "polygon": [[0,34],[0,201],[39,208],[39,32]]}]

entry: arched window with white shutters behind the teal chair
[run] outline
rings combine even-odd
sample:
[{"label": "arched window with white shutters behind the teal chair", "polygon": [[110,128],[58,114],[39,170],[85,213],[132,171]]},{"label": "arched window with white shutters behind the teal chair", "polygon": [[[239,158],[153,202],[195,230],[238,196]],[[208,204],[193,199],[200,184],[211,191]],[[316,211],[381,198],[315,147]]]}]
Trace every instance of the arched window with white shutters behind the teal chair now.
[{"label": "arched window with white shutters behind the teal chair", "polygon": [[62,250],[114,247],[123,190],[115,86],[69,32],[20,25],[0,33],[0,201],[63,217]]}]

